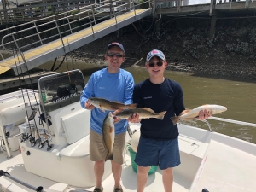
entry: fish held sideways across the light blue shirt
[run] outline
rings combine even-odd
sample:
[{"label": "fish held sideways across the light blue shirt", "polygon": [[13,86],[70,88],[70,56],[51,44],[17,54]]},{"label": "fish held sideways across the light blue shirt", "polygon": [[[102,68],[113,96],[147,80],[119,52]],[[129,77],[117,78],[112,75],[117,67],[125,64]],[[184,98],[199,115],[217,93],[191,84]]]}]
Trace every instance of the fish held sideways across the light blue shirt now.
[{"label": "fish held sideways across the light blue shirt", "polygon": [[111,102],[111,101],[108,101],[107,99],[103,99],[99,97],[90,97],[88,99],[88,102],[90,102],[96,108],[100,108],[102,112],[105,112],[105,110],[114,111],[118,109],[124,110],[125,108],[137,107],[137,103],[125,105],[124,103],[121,103],[121,102]]}]

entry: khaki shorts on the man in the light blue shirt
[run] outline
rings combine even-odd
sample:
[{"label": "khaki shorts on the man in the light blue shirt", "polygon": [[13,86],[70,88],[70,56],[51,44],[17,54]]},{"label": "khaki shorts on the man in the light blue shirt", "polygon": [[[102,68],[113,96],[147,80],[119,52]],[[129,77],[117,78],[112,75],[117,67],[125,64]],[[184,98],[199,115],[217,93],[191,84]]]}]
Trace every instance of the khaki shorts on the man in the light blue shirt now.
[{"label": "khaki shorts on the man in the light blue shirt", "polygon": [[[124,163],[125,135],[126,131],[114,137],[113,161],[119,165]],[[105,160],[107,154],[108,150],[104,147],[102,135],[90,129],[90,160]]]}]

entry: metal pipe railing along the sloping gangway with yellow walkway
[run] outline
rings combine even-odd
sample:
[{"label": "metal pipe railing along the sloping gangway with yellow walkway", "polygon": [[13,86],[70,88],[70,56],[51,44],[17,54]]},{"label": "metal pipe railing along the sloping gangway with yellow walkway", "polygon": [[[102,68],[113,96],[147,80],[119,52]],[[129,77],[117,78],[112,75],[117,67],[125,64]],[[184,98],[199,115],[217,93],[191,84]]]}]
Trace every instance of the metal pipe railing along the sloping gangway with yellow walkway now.
[{"label": "metal pipe railing along the sloping gangway with yellow walkway", "polygon": [[[26,24],[20,24],[18,26],[9,27],[9,29],[0,30],[0,32],[8,33],[7,35],[3,36],[3,38],[2,38],[2,47],[5,50],[13,51],[13,50],[9,49],[6,46],[10,45],[10,44],[15,44],[16,49],[25,49],[25,48],[27,48],[29,46],[32,46],[32,45],[35,45],[35,44],[40,44],[39,46],[41,46],[43,44],[46,44],[45,41],[47,41],[47,40],[48,40],[47,43],[49,43],[49,39],[56,38],[56,37],[63,38],[62,37],[63,34],[67,34],[67,32],[73,33],[74,30],[78,30],[79,28],[81,28],[83,26],[87,26],[88,24],[90,24],[90,27],[92,28],[92,31],[93,31],[92,23],[96,23],[96,21],[105,19],[106,17],[109,17],[110,15],[115,17],[115,20],[116,20],[116,23],[117,23],[117,19],[116,19],[117,13],[123,11],[123,10],[118,10],[120,7],[123,7],[125,5],[128,7],[128,5],[130,5],[130,7],[128,7],[128,9],[130,11],[132,9],[134,9],[134,11],[135,11],[137,6],[140,6],[143,3],[148,3],[148,2],[150,3],[150,0],[148,0],[146,2],[143,2],[143,3],[140,3],[140,4],[137,4],[137,5],[134,5],[134,2],[133,2],[133,6],[131,6],[131,3],[124,3],[124,4],[121,4],[121,5],[117,5],[117,3],[123,2],[123,0],[117,0],[117,1],[111,2],[111,3],[108,3],[108,2],[109,2],[108,0],[105,0],[105,1],[102,1],[101,3],[95,3],[93,5],[88,5],[88,6],[79,8],[79,9],[73,9],[73,10],[58,14],[58,15],[52,15],[52,16],[49,16],[47,18],[36,20],[38,22],[38,21],[53,19],[53,20],[50,20],[50,21],[45,22],[43,24],[36,25],[36,21],[32,20],[30,22],[27,22]],[[113,3],[116,3],[116,6],[114,6]],[[96,7],[96,5],[99,5],[99,6]],[[103,16],[102,18],[96,20],[95,15],[100,15],[102,12],[95,14],[95,10],[96,9],[101,9],[101,8],[106,8],[108,6],[110,7],[110,5],[111,5],[111,9],[109,9],[109,15]],[[94,6],[94,8],[92,8],[93,6]],[[74,10],[79,11],[79,13],[76,13],[76,14],[73,14],[73,15],[68,15],[69,13],[73,12]],[[111,14],[111,11],[113,11],[113,14]],[[90,18],[90,12],[92,12],[93,20],[91,20],[91,18]],[[104,13],[106,13],[106,12],[104,12]],[[60,16],[61,16],[61,18],[60,18]],[[75,26],[73,28],[71,27],[71,24],[73,24],[75,22],[78,22],[78,21],[81,21],[81,20],[85,20],[85,19],[89,19],[90,22],[83,23],[83,24],[81,24],[79,26]],[[65,20],[65,23],[63,23],[61,25],[57,25],[58,21],[62,21],[62,20]],[[79,23],[81,23],[81,22],[79,22]],[[55,26],[53,26],[51,28],[48,28],[46,30],[43,30],[41,32],[38,31],[39,27],[47,26],[49,24],[51,24],[51,25],[55,24]],[[20,30],[18,32],[7,32],[8,30],[15,29],[15,28],[20,27],[20,26],[24,27],[25,25],[33,25],[33,26],[27,27],[26,29]],[[67,26],[67,29],[60,30],[60,27],[64,28],[65,26]],[[49,32],[49,31],[52,31],[52,30],[55,30],[55,29],[57,29],[59,31],[59,33],[57,33],[55,35],[52,35],[51,37],[46,37],[46,38],[42,37],[43,33]],[[32,35],[27,35],[26,37],[23,37],[23,38],[22,37],[21,38],[15,38],[15,35],[20,34],[20,33],[25,34],[27,31],[30,31],[30,30],[37,30],[37,32],[35,34],[32,34]],[[94,33],[94,31],[93,31],[93,33]],[[32,38],[34,36],[38,36],[39,40],[33,42],[32,44],[26,44],[24,46],[19,47],[19,45],[18,45],[19,41],[25,40],[27,38]],[[8,40],[6,43],[4,43],[7,38],[12,39],[12,40]]]}]

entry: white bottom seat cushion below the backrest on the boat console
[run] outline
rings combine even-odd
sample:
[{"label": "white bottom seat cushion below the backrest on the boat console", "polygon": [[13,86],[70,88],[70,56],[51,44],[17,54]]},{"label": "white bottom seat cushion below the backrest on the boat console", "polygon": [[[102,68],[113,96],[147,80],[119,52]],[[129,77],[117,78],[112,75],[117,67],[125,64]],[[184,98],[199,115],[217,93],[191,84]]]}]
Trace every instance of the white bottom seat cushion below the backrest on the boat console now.
[{"label": "white bottom seat cushion below the backrest on the boat console", "polygon": [[84,157],[89,155],[89,135],[80,139],[78,142],[68,145],[60,151],[61,156],[66,157]]}]

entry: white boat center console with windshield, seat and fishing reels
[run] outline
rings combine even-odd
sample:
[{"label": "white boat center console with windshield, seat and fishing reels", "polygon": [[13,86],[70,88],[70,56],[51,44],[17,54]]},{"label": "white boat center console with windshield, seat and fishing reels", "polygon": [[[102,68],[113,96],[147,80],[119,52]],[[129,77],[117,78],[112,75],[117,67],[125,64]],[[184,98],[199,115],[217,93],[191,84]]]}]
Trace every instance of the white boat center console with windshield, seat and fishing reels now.
[{"label": "white boat center console with windshield, seat and fishing reels", "polygon": [[[76,187],[96,184],[91,177],[94,162],[89,158],[90,110],[82,108],[79,102],[84,86],[80,70],[38,80],[34,134],[20,140],[27,172]],[[110,173],[108,161],[103,179]]]}]

